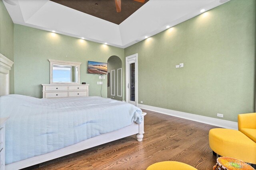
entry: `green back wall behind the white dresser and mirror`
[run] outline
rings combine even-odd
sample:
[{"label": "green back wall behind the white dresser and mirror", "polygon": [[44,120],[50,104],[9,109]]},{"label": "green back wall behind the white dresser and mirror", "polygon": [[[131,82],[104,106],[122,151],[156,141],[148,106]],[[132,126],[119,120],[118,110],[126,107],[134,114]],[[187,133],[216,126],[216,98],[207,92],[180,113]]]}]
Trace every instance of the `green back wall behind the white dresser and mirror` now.
[{"label": "green back wall behind the white dresser and mirror", "polygon": [[[42,98],[41,84],[50,83],[48,59],[81,62],[80,82],[90,84],[89,96],[100,96],[99,75],[87,73],[87,61],[107,63],[112,55],[125,63],[124,49],[14,24],[15,94]],[[124,66],[124,64],[123,64]],[[107,78],[102,96],[107,97]]]}]

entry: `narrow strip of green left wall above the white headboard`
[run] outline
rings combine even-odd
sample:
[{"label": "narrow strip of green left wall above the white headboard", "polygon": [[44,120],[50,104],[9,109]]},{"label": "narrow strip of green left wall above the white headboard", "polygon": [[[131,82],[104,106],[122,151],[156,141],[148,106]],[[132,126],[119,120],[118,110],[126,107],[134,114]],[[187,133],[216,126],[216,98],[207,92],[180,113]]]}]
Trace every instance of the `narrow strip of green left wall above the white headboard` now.
[{"label": "narrow strip of green left wall above the white headboard", "polygon": [[[0,0],[0,53],[14,61],[13,22]],[[14,64],[10,70],[10,94],[14,94]]]}]

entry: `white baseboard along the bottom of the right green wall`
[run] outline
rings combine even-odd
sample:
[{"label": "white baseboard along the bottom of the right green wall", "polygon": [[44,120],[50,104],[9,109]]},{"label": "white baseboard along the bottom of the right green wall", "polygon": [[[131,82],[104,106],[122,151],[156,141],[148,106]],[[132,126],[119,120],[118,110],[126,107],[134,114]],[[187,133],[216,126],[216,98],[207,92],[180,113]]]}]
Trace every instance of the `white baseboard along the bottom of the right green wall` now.
[{"label": "white baseboard along the bottom of the right green wall", "polygon": [[206,124],[209,124],[209,125],[223,127],[223,128],[226,128],[226,129],[235,129],[235,130],[238,129],[238,124],[237,124],[237,122],[234,122],[234,121],[216,119],[216,118],[212,118],[212,117],[195,115],[195,114],[191,114],[191,113],[185,113],[185,112],[182,112],[182,111],[164,109],[164,108],[148,106],[148,105],[144,105],[144,104],[138,104],[138,107],[141,108],[141,109],[156,111],[158,113],[163,113],[163,114],[166,114],[166,115],[171,115],[171,116],[180,117],[180,118],[183,118],[183,119],[198,121],[200,123],[206,123]]}]

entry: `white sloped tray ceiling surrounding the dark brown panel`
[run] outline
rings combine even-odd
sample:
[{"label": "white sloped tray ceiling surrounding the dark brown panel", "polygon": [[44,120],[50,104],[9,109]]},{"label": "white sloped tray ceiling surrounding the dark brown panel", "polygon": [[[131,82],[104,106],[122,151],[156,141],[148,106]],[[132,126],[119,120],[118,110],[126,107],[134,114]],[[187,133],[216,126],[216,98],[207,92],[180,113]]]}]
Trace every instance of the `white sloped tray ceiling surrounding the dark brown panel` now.
[{"label": "white sloped tray ceiling surrounding the dark brown panel", "polygon": [[[50,0],[3,0],[12,21],[56,33],[126,48],[228,0],[150,0],[120,25]],[[6,3],[9,2],[9,3]],[[16,5],[11,5],[14,2]]]}]

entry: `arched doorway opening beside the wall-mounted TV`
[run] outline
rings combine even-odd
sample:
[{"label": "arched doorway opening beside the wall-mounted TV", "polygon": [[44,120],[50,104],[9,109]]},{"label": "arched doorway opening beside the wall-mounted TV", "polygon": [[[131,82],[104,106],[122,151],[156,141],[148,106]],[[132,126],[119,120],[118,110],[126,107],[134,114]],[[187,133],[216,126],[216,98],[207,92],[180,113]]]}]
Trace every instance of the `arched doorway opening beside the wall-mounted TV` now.
[{"label": "arched doorway opening beside the wall-mounted TV", "polygon": [[122,61],[113,55],[108,58],[108,98],[123,100],[122,96]]}]

